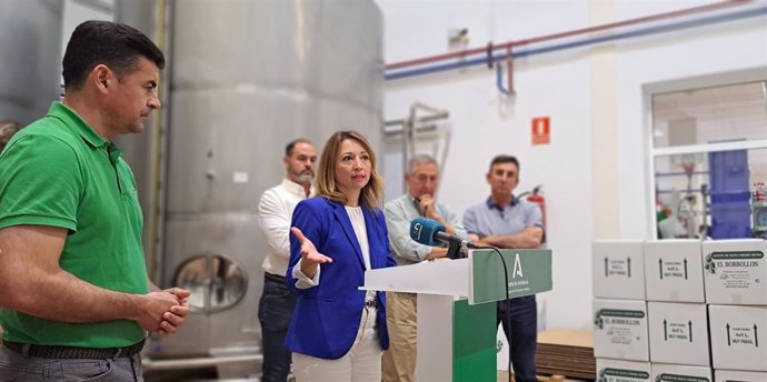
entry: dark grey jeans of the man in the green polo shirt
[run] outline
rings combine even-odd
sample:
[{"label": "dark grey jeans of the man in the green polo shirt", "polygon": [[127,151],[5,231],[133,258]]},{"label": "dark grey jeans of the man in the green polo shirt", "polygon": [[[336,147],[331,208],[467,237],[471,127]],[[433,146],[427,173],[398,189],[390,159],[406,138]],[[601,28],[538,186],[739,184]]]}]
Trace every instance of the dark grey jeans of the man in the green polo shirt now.
[{"label": "dark grey jeans of the man in the green polo shirt", "polygon": [[43,359],[0,346],[0,381],[143,382],[141,354],[117,359]]}]

